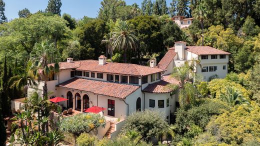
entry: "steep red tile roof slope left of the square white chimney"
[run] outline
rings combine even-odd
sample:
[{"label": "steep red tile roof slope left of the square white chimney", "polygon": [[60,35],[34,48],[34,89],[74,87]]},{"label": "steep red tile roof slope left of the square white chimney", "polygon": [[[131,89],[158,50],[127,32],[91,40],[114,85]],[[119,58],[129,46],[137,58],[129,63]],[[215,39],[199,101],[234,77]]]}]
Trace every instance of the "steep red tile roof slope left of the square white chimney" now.
[{"label": "steep red tile roof slope left of the square white chimney", "polygon": [[175,49],[169,48],[156,67],[165,70],[176,54]]}]

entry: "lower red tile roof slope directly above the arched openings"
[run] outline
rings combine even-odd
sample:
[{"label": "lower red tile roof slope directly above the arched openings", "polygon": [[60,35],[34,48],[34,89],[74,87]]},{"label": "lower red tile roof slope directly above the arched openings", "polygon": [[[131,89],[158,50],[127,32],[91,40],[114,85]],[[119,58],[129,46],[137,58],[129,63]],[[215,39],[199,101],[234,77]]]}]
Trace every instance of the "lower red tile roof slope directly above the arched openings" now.
[{"label": "lower red tile roof slope directly above the arched openings", "polygon": [[57,86],[72,88],[76,90],[92,92],[98,95],[105,95],[105,96],[122,98],[122,99],[140,87],[138,85],[98,81],[98,80],[76,78],[76,77],[67,80],[65,82],[62,82]]}]

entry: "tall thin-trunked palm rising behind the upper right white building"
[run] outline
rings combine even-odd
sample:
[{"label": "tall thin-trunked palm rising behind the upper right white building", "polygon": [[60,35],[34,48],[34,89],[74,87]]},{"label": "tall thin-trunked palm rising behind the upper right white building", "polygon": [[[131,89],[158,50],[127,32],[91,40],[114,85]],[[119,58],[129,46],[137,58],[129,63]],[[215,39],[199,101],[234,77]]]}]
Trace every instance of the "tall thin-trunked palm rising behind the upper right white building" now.
[{"label": "tall thin-trunked palm rising behind the upper right white building", "polygon": [[202,45],[204,45],[204,36],[203,36],[203,29],[204,29],[204,19],[206,19],[207,16],[207,10],[203,2],[200,2],[199,5],[194,9],[193,16],[199,20],[201,25],[201,31],[202,31]]}]

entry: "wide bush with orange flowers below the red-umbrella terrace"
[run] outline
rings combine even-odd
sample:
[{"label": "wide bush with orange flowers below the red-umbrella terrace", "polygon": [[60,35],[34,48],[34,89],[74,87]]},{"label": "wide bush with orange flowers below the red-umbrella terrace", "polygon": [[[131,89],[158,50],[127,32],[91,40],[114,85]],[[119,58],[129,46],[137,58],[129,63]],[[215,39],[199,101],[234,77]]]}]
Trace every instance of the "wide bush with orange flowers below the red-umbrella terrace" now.
[{"label": "wide bush with orange flowers below the red-umbrella terrace", "polygon": [[60,124],[60,130],[79,136],[82,132],[90,132],[95,127],[105,125],[105,119],[100,114],[80,113],[66,117]]}]

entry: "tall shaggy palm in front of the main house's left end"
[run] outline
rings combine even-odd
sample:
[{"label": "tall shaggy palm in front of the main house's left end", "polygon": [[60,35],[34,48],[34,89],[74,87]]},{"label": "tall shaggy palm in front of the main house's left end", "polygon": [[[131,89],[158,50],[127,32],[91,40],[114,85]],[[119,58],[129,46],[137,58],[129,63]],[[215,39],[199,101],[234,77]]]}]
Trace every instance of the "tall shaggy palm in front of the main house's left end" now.
[{"label": "tall shaggy palm in front of the main house's left end", "polygon": [[44,81],[43,96],[47,96],[47,81],[59,71],[59,51],[49,41],[36,43],[28,61],[28,75]]}]

